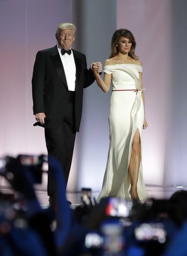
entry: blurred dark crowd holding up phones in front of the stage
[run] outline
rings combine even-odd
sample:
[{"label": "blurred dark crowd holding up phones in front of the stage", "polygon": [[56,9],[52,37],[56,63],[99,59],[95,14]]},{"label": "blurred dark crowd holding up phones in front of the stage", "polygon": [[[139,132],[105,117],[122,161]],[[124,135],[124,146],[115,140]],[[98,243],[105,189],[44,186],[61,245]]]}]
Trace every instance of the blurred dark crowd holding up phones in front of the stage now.
[{"label": "blurred dark crowd holding up phones in front of the stage", "polygon": [[[34,191],[48,162],[57,201],[43,209]],[[49,156],[0,159],[15,193],[0,192],[0,256],[187,256],[187,191],[169,200],[104,198],[82,189],[82,204],[66,200],[60,164]]]}]

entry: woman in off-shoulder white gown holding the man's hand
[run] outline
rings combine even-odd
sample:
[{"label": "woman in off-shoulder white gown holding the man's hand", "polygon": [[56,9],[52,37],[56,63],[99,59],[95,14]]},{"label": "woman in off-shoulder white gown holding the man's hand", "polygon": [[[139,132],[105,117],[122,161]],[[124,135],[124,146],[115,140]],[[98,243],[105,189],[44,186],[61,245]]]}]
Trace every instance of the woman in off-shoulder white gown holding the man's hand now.
[{"label": "woman in off-shoulder white gown holding the man's hand", "polygon": [[112,82],[109,110],[110,146],[98,200],[114,196],[148,198],[142,170],[142,128],[147,128],[142,85],[142,63],[135,55],[136,41],[126,29],[115,31],[112,52],[105,61],[104,81],[92,67],[97,84],[107,93]]}]

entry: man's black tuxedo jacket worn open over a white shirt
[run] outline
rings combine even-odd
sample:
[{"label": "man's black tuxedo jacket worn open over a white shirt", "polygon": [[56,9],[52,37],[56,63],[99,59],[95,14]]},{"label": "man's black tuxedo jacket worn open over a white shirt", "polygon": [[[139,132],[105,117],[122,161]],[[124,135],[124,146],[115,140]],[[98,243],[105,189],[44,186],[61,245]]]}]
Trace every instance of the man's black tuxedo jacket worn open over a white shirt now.
[{"label": "man's black tuxedo jacket worn open over a white shirt", "polygon": [[[87,70],[86,56],[72,49],[75,66],[75,128],[79,132],[83,89],[91,85],[95,78],[91,69]],[[45,128],[56,129],[62,124],[68,103],[68,86],[65,71],[57,46],[39,51],[32,77],[33,112],[45,113]]]}]

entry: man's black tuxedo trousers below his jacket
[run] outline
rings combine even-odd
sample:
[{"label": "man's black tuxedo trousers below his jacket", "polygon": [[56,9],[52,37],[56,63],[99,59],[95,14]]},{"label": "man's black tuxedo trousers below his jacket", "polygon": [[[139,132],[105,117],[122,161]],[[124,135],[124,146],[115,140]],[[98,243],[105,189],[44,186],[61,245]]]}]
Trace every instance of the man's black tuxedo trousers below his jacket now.
[{"label": "man's black tuxedo trousers below his jacket", "polygon": [[[68,96],[68,104],[62,125],[58,129],[45,128],[45,141],[48,155],[55,156],[61,163],[66,185],[72,164],[76,136],[74,114],[75,92],[69,91]],[[56,185],[51,172],[52,170],[49,168],[47,191],[49,196],[54,196],[56,194]]]}]

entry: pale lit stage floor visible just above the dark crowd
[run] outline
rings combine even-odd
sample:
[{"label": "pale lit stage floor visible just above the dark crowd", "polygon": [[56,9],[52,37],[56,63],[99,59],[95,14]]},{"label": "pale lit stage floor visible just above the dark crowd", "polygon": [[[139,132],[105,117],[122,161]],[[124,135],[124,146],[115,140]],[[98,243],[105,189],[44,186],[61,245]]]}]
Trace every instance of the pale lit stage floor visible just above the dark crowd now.
[{"label": "pale lit stage floor visible just above the dark crowd", "polygon": [[[178,191],[178,190],[187,190],[187,187],[175,187],[175,186],[146,186],[147,191],[150,198],[155,199],[168,199],[170,196]],[[8,188],[1,188],[0,191],[2,193],[11,193],[12,190]],[[46,191],[36,191],[37,197],[39,202],[41,203],[42,207],[46,208],[49,205],[49,196],[47,195]],[[97,199],[99,192],[92,193],[92,198],[94,202],[94,198]],[[81,204],[80,200],[81,193],[80,192],[66,192],[67,200],[72,202],[72,207],[76,207]]]}]

